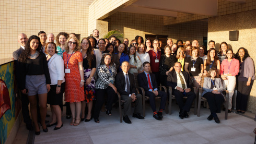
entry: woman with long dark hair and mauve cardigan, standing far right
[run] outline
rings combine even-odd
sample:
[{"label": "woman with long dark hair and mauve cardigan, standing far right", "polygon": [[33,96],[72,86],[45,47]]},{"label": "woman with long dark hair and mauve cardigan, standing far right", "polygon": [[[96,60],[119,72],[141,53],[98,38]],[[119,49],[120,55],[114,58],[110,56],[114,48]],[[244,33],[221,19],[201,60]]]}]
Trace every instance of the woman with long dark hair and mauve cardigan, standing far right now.
[{"label": "woman with long dark hair and mauve cardigan, standing far right", "polygon": [[253,81],[255,80],[254,62],[250,57],[247,49],[240,47],[236,53],[240,68],[237,75],[237,113],[244,114],[247,108],[248,96],[250,95]]}]

